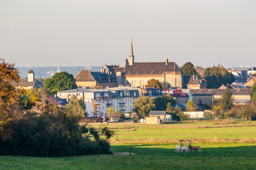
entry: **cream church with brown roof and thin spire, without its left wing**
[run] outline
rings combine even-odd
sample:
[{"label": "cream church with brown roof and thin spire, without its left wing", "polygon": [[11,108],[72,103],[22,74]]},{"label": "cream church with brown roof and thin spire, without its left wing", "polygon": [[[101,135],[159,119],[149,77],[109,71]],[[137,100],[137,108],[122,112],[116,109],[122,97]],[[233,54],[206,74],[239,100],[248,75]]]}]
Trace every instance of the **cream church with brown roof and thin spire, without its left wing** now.
[{"label": "cream church with brown roof and thin spire, without its left wing", "polygon": [[134,52],[131,42],[129,60],[124,67],[124,86],[145,86],[150,79],[158,79],[170,88],[181,88],[183,76],[175,62],[134,62]]}]

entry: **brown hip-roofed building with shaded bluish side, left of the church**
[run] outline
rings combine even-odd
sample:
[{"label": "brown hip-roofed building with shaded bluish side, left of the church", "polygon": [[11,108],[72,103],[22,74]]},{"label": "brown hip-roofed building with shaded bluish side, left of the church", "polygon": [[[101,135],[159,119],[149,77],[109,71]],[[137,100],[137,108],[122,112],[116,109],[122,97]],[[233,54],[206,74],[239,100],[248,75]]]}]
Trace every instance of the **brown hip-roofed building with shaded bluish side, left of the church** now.
[{"label": "brown hip-roofed building with shaded bluish side, left of the church", "polygon": [[82,69],[75,76],[75,84],[78,87],[114,87],[117,86],[116,77],[110,72],[90,72],[88,69]]}]

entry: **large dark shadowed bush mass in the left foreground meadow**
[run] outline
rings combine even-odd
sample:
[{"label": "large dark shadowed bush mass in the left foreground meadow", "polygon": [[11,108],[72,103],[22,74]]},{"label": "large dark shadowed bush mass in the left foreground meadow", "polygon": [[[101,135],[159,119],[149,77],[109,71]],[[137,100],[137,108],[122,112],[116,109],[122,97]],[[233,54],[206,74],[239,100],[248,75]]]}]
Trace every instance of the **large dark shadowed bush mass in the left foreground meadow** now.
[{"label": "large dark shadowed bush mass in the left foreground meadow", "polygon": [[[63,157],[110,153],[113,132],[79,125],[80,119],[63,108],[47,104],[43,113],[27,112],[9,121],[0,133],[0,154],[33,157]],[[7,133],[9,132],[9,133]]]}]

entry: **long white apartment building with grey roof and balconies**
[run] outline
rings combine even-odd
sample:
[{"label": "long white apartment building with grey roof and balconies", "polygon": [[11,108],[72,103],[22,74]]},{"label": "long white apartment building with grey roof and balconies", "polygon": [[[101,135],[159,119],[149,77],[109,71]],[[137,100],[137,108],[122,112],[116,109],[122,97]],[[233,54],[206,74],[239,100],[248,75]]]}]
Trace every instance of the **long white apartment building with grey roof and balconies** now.
[{"label": "long white apartment building with grey roof and balconies", "polygon": [[107,108],[114,107],[114,111],[129,113],[132,111],[133,103],[139,97],[137,89],[129,87],[115,87],[110,89],[73,89],[59,91],[60,98],[69,101],[71,96],[77,96],[85,101],[86,112],[89,117],[105,116]]}]

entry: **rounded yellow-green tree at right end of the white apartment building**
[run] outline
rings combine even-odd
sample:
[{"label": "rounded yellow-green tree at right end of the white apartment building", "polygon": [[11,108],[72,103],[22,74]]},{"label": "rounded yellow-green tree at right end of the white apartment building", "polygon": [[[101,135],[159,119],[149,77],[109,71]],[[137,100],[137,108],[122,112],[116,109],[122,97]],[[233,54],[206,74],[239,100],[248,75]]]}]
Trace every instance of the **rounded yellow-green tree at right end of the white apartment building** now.
[{"label": "rounded yellow-green tree at right end of the white apartment building", "polygon": [[153,98],[141,96],[134,101],[134,111],[139,114],[139,118],[145,118],[155,107]]}]

